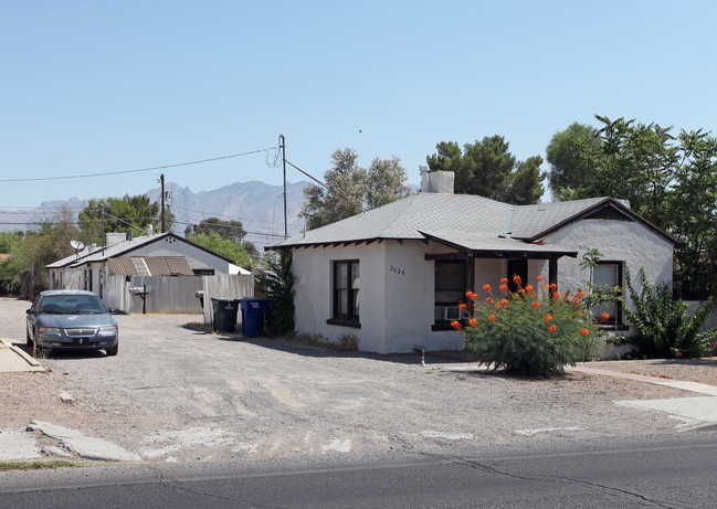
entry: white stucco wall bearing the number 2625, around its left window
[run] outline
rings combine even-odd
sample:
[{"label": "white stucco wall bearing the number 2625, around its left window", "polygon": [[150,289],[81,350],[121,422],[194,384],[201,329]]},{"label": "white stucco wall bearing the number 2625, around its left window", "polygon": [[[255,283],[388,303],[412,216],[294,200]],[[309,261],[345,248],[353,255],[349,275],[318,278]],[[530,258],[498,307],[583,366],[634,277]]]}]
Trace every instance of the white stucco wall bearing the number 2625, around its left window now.
[{"label": "white stucco wall bearing the number 2625, around its left window", "polygon": [[[299,333],[320,336],[333,342],[355,336],[359,350],[378,353],[456,350],[463,336],[455,330],[436,330],[434,324],[435,263],[425,254],[450,253],[436,243],[384,241],[341,247],[294,250],[292,272],[296,276],[295,327]],[[361,328],[329,325],[333,314],[333,262],[358,259],[360,271]],[[529,261],[528,275],[547,277],[546,261]],[[507,259],[475,259],[475,291],[487,297],[483,285],[499,295],[500,278],[507,275]]]}]

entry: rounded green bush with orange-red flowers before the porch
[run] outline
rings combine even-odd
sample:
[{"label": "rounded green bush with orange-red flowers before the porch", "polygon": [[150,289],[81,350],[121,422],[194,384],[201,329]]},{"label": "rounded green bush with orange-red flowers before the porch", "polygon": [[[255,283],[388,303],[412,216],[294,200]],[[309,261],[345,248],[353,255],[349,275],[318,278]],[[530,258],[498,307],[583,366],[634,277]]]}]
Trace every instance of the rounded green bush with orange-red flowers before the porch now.
[{"label": "rounded green bush with orange-red flowers before the porch", "polygon": [[[597,329],[584,308],[583,293],[561,296],[541,284],[541,277],[538,291],[531,285],[523,288],[517,276],[514,280],[518,291],[509,293],[503,279],[497,303],[493,296],[478,301],[475,294],[466,294],[467,319],[464,326],[453,322],[463,330],[463,351],[494,369],[544,375],[562,374],[566,365],[595,357]],[[492,295],[489,285],[483,288]]]}]

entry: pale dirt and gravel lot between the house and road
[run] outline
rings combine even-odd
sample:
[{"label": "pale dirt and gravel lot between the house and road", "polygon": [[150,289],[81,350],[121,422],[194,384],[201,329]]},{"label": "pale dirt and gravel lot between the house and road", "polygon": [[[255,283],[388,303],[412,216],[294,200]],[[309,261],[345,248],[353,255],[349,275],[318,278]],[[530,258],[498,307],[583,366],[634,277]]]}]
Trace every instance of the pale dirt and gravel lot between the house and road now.
[{"label": "pale dirt and gravel lot between the house and road", "polygon": [[[1,338],[24,344],[27,307],[0,299]],[[188,327],[200,320],[118,316],[117,357],[51,354],[46,373],[0,373],[0,430],[46,421],[158,462],[360,459],[673,435],[674,418],[614,401],[696,395],[582,373],[486,373],[433,356],[422,367],[415,354],[338,353]],[[591,365],[717,385],[713,360]],[[62,403],[63,391],[76,403]]]}]

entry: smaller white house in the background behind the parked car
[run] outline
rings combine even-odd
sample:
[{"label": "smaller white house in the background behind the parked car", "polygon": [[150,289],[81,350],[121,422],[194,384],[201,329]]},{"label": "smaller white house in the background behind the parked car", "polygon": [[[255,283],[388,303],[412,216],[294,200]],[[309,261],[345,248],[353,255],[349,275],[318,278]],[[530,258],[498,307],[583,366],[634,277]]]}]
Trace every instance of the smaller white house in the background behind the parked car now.
[{"label": "smaller white house in the background behind the parked car", "polygon": [[88,289],[103,297],[109,276],[212,276],[250,274],[233,261],[175,233],[127,238],[107,234],[107,245],[82,252],[45,266],[51,288]]}]

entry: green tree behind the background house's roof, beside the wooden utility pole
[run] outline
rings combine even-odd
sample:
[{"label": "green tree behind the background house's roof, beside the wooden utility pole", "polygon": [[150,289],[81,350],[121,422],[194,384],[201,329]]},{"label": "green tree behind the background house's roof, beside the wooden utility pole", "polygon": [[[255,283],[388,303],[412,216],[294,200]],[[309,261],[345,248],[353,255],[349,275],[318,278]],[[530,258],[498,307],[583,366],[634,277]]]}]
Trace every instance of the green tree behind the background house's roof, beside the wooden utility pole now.
[{"label": "green tree behind the background house's roof, beside the wooden utility pole", "polygon": [[[151,202],[147,194],[124,198],[106,198],[102,200],[89,200],[87,206],[80,212],[78,224],[87,242],[102,243],[102,224],[104,218],[104,231],[108,232],[144,232],[150,224],[159,230],[161,220],[161,205]],[[104,213],[103,213],[104,210]],[[165,210],[165,230],[171,231],[175,224],[175,216]]]}]

